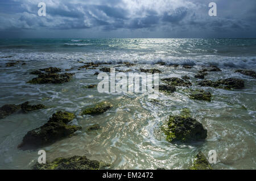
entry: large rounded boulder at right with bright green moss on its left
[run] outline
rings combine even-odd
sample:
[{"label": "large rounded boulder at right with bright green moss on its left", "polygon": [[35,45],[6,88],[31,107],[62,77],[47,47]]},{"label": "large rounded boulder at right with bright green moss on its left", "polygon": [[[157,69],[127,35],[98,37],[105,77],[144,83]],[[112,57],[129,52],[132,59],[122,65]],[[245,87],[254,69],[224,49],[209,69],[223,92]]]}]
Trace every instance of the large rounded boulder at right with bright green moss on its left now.
[{"label": "large rounded boulder at right with bright green moss on its left", "polygon": [[166,140],[173,141],[197,141],[207,137],[207,130],[203,125],[189,115],[172,116],[168,120],[168,128],[164,129]]}]

